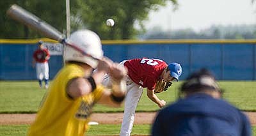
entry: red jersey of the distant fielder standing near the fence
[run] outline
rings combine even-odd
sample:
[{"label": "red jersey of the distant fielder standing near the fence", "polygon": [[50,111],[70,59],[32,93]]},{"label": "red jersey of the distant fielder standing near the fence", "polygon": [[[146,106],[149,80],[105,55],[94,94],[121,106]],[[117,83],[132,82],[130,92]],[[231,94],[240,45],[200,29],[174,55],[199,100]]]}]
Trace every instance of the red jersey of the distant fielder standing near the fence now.
[{"label": "red jersey of the distant fielder standing near the fence", "polygon": [[47,49],[38,49],[33,54],[33,58],[35,59],[36,63],[48,62],[48,60],[45,59],[47,56],[50,56],[49,51]]}]

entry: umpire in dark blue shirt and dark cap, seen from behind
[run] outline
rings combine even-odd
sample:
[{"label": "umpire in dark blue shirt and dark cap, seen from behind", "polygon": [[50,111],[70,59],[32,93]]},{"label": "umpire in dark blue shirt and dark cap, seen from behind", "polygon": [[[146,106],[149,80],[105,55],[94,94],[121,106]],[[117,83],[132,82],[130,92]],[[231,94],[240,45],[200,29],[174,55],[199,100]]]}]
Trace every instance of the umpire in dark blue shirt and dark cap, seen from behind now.
[{"label": "umpire in dark blue shirt and dark cap, seen from behind", "polygon": [[159,111],[152,135],[252,135],[248,118],[221,99],[214,76],[202,69],[182,84],[180,100]]}]

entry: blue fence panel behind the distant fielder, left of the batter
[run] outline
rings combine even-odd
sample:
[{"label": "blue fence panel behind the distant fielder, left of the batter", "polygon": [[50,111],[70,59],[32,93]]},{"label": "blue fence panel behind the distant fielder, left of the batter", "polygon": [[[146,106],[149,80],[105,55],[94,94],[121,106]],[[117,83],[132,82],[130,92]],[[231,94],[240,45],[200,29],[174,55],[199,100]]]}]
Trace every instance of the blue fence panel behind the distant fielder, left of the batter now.
[{"label": "blue fence panel behind the distant fielder, left of the batter", "polygon": [[[36,44],[0,44],[0,80],[34,80],[32,67]],[[62,56],[51,56],[49,75],[52,79],[62,66]]]}]

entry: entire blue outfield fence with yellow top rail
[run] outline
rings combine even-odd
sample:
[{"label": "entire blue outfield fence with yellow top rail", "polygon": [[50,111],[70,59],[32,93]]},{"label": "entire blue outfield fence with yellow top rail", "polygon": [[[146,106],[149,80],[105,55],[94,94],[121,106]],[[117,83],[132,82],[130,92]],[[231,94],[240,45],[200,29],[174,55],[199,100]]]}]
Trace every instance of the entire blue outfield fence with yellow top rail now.
[{"label": "entire blue outfield fence with yellow top rail", "polygon": [[[0,80],[36,79],[31,64],[37,41],[0,40]],[[219,80],[256,80],[256,40],[103,41],[102,45],[104,55],[116,62],[148,57],[180,63],[181,80],[200,68],[209,68]],[[51,56],[50,79],[61,66],[62,56]]]}]

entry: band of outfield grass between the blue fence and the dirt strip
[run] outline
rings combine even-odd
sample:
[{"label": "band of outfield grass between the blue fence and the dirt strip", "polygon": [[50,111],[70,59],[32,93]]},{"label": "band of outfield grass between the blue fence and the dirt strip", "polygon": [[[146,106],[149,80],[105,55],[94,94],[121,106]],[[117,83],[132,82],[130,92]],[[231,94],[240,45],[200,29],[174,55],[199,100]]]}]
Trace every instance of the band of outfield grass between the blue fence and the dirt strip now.
[{"label": "band of outfield grass between the blue fence and the dirt strip", "polygon": [[[181,82],[175,82],[168,91],[159,93],[159,98],[172,103],[177,98],[177,90]],[[220,86],[225,89],[224,98],[241,110],[256,111],[256,82],[252,81],[221,81]],[[0,113],[35,113],[45,94],[36,81],[5,82],[0,81]],[[159,108],[147,98],[143,92],[137,111],[152,112]],[[113,109],[96,105],[95,112],[122,112],[123,107]]]}]

